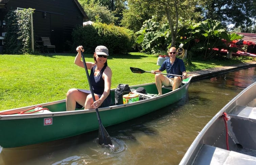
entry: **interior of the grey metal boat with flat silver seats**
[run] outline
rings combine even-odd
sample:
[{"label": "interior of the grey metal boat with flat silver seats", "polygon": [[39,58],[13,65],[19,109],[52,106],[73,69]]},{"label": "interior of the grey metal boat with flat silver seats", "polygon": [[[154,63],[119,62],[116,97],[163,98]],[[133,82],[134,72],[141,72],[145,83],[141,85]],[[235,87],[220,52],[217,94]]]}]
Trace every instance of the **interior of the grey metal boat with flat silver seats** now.
[{"label": "interior of the grey metal boat with flat silver seats", "polygon": [[[254,85],[256,86],[256,85]],[[255,87],[254,87],[255,89]],[[256,90],[231,103],[208,128],[194,153],[193,165],[256,164]],[[227,126],[227,129],[226,129]],[[228,130],[228,134],[227,131]]]}]

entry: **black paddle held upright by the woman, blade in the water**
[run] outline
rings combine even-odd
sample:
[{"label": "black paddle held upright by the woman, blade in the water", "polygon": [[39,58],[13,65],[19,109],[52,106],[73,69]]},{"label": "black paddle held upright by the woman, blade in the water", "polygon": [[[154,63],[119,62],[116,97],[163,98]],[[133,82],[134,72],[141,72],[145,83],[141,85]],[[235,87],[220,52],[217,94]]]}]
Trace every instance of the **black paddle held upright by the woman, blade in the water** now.
[{"label": "black paddle held upright by the woman, blade in the water", "polygon": [[[82,49],[84,49],[84,48],[82,48]],[[85,63],[84,53],[82,52],[82,50],[81,50],[81,55],[82,55],[83,63],[84,63],[84,66],[85,66],[85,72],[86,72],[86,76],[87,76],[87,79],[88,79],[88,82],[89,82],[89,86],[90,86],[90,90],[91,90],[91,94],[92,94],[92,99],[95,102],[96,100],[95,100],[95,96],[94,96],[94,93],[93,93],[91,80],[89,78],[89,73],[88,73],[88,70],[87,70],[87,66],[86,66],[86,63]],[[95,110],[96,110],[96,114],[97,114],[97,118],[98,118],[98,122],[99,122],[99,144],[104,145],[106,147],[107,146],[112,146],[112,141],[110,139],[110,136],[109,136],[108,132],[106,131],[106,129],[103,127],[101,119],[99,117],[98,108],[95,108]]]}]

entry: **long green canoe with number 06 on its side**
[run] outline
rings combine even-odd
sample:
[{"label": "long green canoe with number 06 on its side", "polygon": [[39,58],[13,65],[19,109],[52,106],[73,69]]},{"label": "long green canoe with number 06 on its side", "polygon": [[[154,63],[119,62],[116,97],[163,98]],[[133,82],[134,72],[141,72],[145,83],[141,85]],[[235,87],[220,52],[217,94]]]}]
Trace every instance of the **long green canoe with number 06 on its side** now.
[{"label": "long green canoe with number 06 on its side", "polygon": [[[163,95],[121,105],[114,105],[115,89],[112,89],[113,106],[98,109],[103,126],[115,125],[177,102],[186,95],[190,80],[191,77],[183,80],[182,86],[174,91],[163,87]],[[158,93],[155,83],[130,86],[134,89],[138,87],[144,87],[147,93]],[[95,109],[66,111],[65,101],[0,111],[0,146],[11,148],[48,142],[99,128]],[[42,106],[49,111],[7,114],[21,112],[35,106]]]}]

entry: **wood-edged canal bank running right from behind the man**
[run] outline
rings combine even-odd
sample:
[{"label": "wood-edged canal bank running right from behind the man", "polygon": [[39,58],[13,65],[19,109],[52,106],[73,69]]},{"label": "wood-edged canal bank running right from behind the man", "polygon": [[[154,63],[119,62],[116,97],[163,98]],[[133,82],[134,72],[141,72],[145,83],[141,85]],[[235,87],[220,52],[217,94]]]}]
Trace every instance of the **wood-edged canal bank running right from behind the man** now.
[{"label": "wood-edged canal bank running right from behind the man", "polygon": [[207,77],[212,77],[212,76],[215,76],[215,75],[219,75],[219,74],[222,74],[222,73],[231,72],[231,71],[239,70],[239,69],[242,69],[242,68],[254,67],[254,66],[256,66],[256,61],[188,72],[188,75],[193,76],[191,81],[196,81],[196,80],[204,79],[204,78],[207,78]]}]

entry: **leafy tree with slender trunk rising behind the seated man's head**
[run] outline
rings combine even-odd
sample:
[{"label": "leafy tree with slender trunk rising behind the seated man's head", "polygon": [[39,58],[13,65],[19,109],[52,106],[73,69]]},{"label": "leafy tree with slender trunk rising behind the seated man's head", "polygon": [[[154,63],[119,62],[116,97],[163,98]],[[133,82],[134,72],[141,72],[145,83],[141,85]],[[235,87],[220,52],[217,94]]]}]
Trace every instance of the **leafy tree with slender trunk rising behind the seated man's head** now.
[{"label": "leafy tree with slender trunk rising behind the seated man's head", "polygon": [[[129,16],[131,20],[136,20],[136,18],[140,17],[143,20],[145,18],[144,15],[147,15],[147,17],[154,15],[157,22],[161,24],[168,22],[171,32],[171,45],[175,46],[177,32],[184,26],[181,22],[198,20],[201,17],[201,12],[197,8],[200,8],[204,3],[202,0],[128,0],[129,10],[136,11]],[[140,12],[142,14],[139,14]],[[125,16],[124,14],[124,19]],[[129,28],[129,25],[127,25],[129,22],[126,21],[125,23],[122,21],[122,25]]]}]

